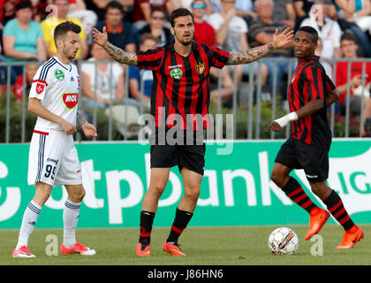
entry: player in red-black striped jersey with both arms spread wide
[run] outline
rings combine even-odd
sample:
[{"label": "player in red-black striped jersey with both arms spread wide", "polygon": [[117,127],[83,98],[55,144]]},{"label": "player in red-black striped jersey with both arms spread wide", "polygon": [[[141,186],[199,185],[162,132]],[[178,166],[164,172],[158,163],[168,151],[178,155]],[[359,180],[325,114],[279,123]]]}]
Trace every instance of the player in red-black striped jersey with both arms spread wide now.
[{"label": "player in red-black striped jersey with both arms spread wide", "polygon": [[[195,136],[194,133],[202,134],[202,129],[208,125],[210,67],[223,68],[224,65],[254,62],[272,50],[289,44],[293,39],[293,32],[288,28],[282,34],[276,31],[273,41],[266,45],[244,53],[229,53],[193,42],[193,14],[187,9],[173,11],[170,24],[174,42],[138,53],[120,50],[108,42],[105,27],[103,33],[93,30],[95,42],[119,63],[147,68],[154,74],[151,114],[155,119],[155,140],[151,142],[150,139],[151,177],[140,212],[138,256],[151,256],[150,236],[155,212],[169,180],[170,167],[175,165],[178,165],[182,175],[185,192],[178,203],[163,249],[173,256],[186,256],[179,248],[178,237],[193,217],[201,190],[205,145],[202,141],[200,143],[199,135]],[[201,118],[201,123],[194,126],[195,118],[196,122]],[[176,139],[175,143],[173,139]]]}]

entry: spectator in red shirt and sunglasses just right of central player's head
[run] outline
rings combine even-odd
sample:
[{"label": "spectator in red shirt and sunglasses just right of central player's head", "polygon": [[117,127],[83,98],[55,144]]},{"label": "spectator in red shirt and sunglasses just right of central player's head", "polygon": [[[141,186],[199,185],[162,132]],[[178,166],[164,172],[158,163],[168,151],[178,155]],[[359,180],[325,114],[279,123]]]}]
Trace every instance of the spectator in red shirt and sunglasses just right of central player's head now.
[{"label": "spectator in red shirt and sunglasses just right of central player's head", "polygon": [[[194,25],[194,40],[197,44],[206,44],[208,46],[213,46],[216,44],[216,33],[214,28],[211,27],[205,20],[206,15],[206,2],[205,0],[193,0],[191,5],[191,11],[193,13],[193,25]],[[225,103],[233,95],[233,81],[231,80],[228,68],[223,68],[221,70],[215,67],[210,68],[210,74],[213,78],[219,78],[219,72],[221,72],[222,89],[221,98],[222,102]],[[213,88],[213,85],[211,85]],[[218,89],[213,89],[210,91],[211,101],[218,101]]]}]

